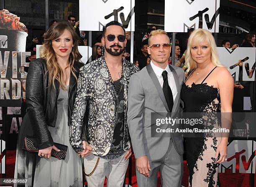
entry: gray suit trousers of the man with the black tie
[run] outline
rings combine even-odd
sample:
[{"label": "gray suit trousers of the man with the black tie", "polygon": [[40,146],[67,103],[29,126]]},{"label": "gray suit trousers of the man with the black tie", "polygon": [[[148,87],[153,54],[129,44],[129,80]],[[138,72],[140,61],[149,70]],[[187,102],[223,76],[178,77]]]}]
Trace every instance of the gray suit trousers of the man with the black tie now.
[{"label": "gray suit trousers of the man with the black tie", "polygon": [[138,187],[157,187],[158,170],[160,171],[161,187],[181,187],[183,156],[177,153],[172,139],[164,157],[159,160],[149,160],[149,162],[151,168],[149,177],[145,177],[136,169]]}]

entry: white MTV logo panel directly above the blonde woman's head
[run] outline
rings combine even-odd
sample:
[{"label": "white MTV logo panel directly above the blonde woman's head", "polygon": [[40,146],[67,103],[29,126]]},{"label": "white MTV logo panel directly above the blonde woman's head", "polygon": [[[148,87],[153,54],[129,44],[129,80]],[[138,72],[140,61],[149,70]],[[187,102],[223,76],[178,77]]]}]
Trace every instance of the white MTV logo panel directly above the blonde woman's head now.
[{"label": "white MTV logo panel directly above the blonde woman's head", "polygon": [[164,30],[186,33],[190,28],[199,28],[202,22],[202,28],[218,33],[219,7],[220,0],[165,0]]}]

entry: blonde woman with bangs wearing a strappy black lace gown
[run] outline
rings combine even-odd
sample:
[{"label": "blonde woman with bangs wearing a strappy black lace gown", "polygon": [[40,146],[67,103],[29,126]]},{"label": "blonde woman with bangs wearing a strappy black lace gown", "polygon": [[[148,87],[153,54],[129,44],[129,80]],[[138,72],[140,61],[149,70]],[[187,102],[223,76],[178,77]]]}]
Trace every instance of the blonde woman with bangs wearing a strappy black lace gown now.
[{"label": "blonde woman with bangs wearing a strappy black lace gown", "polygon": [[[219,61],[210,32],[204,29],[193,31],[188,40],[186,63],[187,79],[181,91],[184,111],[206,114],[207,128],[218,126],[219,122],[208,115],[218,111],[231,114],[234,81]],[[186,139],[189,187],[217,187],[218,166],[225,162],[228,137],[214,133],[211,136],[194,136]]]}]

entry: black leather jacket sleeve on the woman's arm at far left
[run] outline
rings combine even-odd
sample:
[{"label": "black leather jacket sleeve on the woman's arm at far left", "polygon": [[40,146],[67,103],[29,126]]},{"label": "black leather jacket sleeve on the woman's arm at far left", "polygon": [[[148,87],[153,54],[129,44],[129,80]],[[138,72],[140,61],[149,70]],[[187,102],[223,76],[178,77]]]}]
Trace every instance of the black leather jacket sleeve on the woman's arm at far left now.
[{"label": "black leather jacket sleeve on the woman's arm at far left", "polygon": [[34,136],[38,140],[39,149],[53,146],[53,140],[47,129],[43,111],[43,71],[36,59],[29,64],[26,78],[26,102]]}]

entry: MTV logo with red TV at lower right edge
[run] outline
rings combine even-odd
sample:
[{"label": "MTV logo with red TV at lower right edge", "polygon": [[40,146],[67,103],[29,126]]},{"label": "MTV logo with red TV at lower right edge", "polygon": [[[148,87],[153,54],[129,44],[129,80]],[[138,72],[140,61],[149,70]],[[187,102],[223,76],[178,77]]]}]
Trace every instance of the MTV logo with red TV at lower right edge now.
[{"label": "MTV logo with red TV at lower right edge", "polygon": [[236,164],[239,165],[239,173],[255,173],[256,142],[253,140],[234,140],[228,145],[227,161],[219,166],[218,172],[225,173],[231,169],[236,173]]}]

